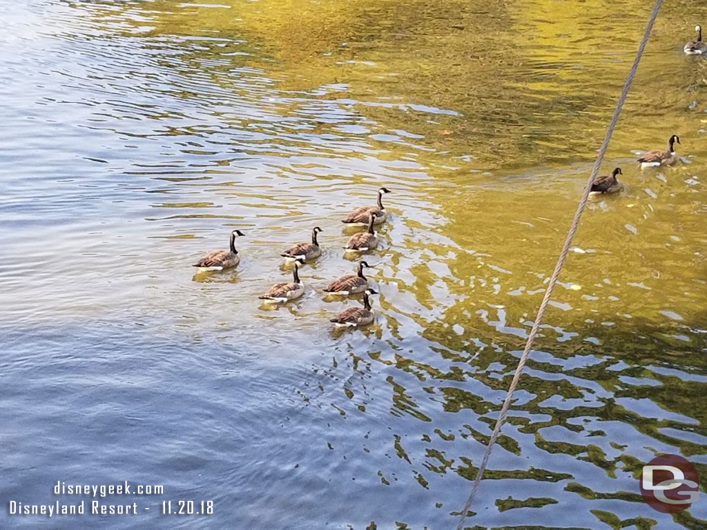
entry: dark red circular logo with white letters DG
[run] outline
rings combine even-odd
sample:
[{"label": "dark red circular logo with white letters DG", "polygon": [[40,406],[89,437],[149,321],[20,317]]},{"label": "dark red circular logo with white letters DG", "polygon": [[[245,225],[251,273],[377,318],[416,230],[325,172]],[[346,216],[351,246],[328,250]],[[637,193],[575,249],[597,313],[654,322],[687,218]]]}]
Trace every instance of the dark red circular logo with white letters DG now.
[{"label": "dark red circular logo with white letters DG", "polygon": [[695,466],[677,454],[661,454],[643,466],[641,495],[664,514],[677,514],[699,497],[700,479]]}]

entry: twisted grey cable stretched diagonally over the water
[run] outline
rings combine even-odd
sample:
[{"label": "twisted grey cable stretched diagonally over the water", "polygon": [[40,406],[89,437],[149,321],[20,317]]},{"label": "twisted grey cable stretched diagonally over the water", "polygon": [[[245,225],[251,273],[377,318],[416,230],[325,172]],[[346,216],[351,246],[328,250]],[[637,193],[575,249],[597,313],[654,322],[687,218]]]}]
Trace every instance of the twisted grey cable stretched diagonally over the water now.
[{"label": "twisted grey cable stretched diagonally over the water", "polygon": [[655,23],[655,19],[658,17],[658,11],[660,11],[660,6],[662,6],[662,0],[655,0],[653,11],[650,13],[648,24],[645,26],[645,32],[643,33],[641,44],[638,45],[636,57],[633,59],[633,64],[631,65],[629,76],[626,77],[624,89],[621,90],[621,97],[619,98],[619,101],[617,102],[617,107],[614,110],[612,121],[609,123],[607,134],[604,135],[604,141],[602,142],[602,146],[599,149],[597,160],[595,161],[594,166],[592,167],[592,172],[590,173],[587,185],[585,186],[582,199],[580,200],[577,206],[577,211],[575,211],[570,230],[562,247],[562,252],[560,253],[559,258],[557,259],[555,270],[552,272],[552,276],[550,277],[550,281],[547,285],[547,290],[545,290],[545,295],[542,298],[542,303],[540,304],[540,307],[537,310],[537,316],[535,317],[535,321],[532,324],[532,329],[530,330],[530,334],[528,335],[527,341],[525,343],[525,348],[523,348],[523,353],[522,355],[520,355],[520,360],[518,360],[518,367],[515,368],[513,380],[510,382],[510,387],[508,387],[506,399],[503,400],[501,412],[498,414],[496,425],[494,425],[493,427],[493,432],[491,433],[491,438],[489,439],[489,445],[486,446],[486,452],[484,452],[484,458],[481,459],[481,465],[479,466],[479,471],[477,471],[477,476],[474,478],[472,490],[469,493],[469,497],[467,497],[467,502],[464,504],[464,508],[462,508],[461,517],[459,519],[459,523],[457,524],[457,530],[462,530],[464,526],[464,520],[467,518],[469,507],[471,507],[472,502],[474,501],[474,495],[476,495],[477,490],[479,489],[479,483],[481,483],[481,478],[484,477],[484,471],[486,471],[486,466],[489,465],[491,449],[493,449],[493,444],[496,444],[496,440],[498,440],[498,435],[501,434],[501,427],[503,427],[503,423],[506,420],[508,408],[510,407],[510,400],[513,398],[513,392],[515,391],[515,388],[518,387],[518,380],[520,379],[520,374],[523,371],[523,367],[525,367],[525,362],[527,361],[528,354],[530,353],[530,348],[532,348],[533,341],[535,340],[535,336],[537,335],[540,323],[542,322],[542,317],[545,312],[545,308],[547,307],[547,304],[550,301],[552,291],[554,290],[555,284],[557,283],[557,278],[560,275],[560,271],[562,270],[562,266],[565,263],[565,259],[569,252],[570,246],[572,245],[572,240],[575,235],[575,232],[577,231],[580,218],[582,217],[582,212],[584,211],[584,208],[587,205],[589,194],[592,191],[592,182],[594,182],[594,179],[597,176],[597,172],[599,172],[599,168],[602,165],[602,162],[604,161],[604,154],[607,152],[607,148],[609,147],[609,141],[611,140],[612,134],[614,133],[614,128],[616,127],[617,122],[619,121],[619,116],[621,115],[621,109],[624,107],[624,101],[626,101],[626,96],[629,95],[629,88],[631,88],[633,76],[636,75],[638,63],[641,62],[641,57],[643,56],[643,50],[645,49],[645,45],[648,44],[650,32],[651,30],[653,30],[653,23]]}]

